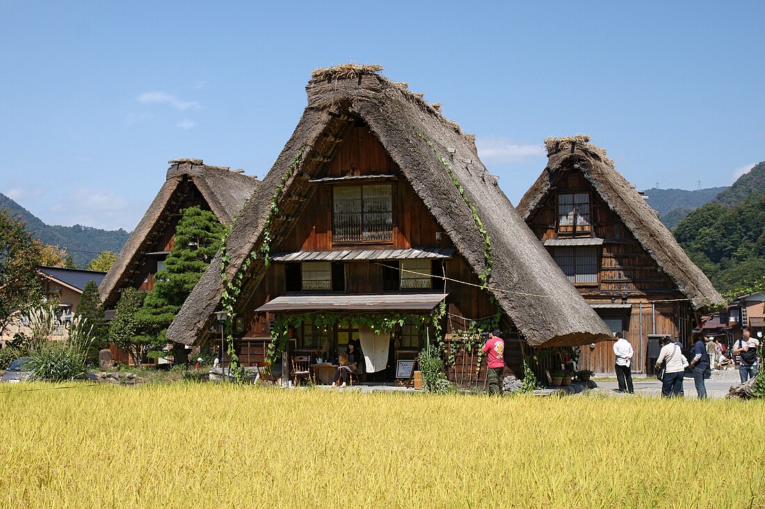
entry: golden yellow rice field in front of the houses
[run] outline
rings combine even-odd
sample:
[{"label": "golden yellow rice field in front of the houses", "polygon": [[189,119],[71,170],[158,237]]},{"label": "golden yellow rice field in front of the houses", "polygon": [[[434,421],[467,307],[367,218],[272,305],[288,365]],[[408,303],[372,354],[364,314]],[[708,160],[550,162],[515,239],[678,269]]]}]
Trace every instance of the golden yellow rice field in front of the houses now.
[{"label": "golden yellow rice field in front of the houses", "polygon": [[762,402],[52,387],[0,387],[3,507],[765,507]]}]

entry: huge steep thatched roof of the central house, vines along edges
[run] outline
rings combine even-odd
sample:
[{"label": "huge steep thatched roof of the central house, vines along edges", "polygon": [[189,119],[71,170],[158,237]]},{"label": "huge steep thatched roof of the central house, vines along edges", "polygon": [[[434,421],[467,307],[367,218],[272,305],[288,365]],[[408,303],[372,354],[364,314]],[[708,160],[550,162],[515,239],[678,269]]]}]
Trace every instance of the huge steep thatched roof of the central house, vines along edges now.
[{"label": "huge steep thatched roof of the central house, vines along edges", "polygon": [[[308,180],[321,175],[334,157],[338,138],[362,120],[399,165],[467,264],[479,273],[486,264],[483,235],[434,148],[451,165],[491,238],[493,294],[529,344],[580,345],[609,337],[601,319],[520,219],[496,177],[483,167],[474,138],[463,135],[456,122],[444,118],[422,96],[379,76],[377,70],[349,74],[343,66],[342,72],[314,73],[306,88],[308,107],[295,132],[263,179],[259,193],[233,225],[227,245],[229,277],[262,244],[272,196],[301,148],[300,163],[286,180],[284,199],[278,204],[282,216],[276,216],[270,227],[274,252],[293,224],[290,219],[300,215],[306,197],[315,188]],[[206,339],[210,315],[220,306],[220,263],[219,254],[168,329],[168,337],[174,341],[197,344]],[[252,264],[243,294],[265,274],[263,265],[260,260]]]}]

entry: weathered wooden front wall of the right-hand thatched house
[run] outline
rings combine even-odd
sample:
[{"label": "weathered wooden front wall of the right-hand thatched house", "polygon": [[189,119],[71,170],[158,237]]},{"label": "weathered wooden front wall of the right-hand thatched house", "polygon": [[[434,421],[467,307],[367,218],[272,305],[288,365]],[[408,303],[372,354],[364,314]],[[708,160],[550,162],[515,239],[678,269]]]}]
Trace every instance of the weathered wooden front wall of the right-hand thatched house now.
[{"label": "weathered wooden front wall of the right-hand thatched house", "polygon": [[[575,195],[586,196],[576,209],[569,204]],[[649,335],[666,334],[688,345],[698,323],[691,303],[581,172],[563,173],[526,222],[542,242],[548,241],[545,245],[581,296],[633,345],[633,371],[653,372]],[[614,372],[613,345],[581,346],[580,367]]]}]

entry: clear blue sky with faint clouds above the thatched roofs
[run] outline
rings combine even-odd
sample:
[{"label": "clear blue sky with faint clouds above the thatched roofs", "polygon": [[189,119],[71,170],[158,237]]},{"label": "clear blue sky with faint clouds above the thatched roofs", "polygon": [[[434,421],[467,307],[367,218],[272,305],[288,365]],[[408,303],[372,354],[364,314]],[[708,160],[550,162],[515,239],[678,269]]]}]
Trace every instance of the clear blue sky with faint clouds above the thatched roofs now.
[{"label": "clear blue sky with faint clouds above the thatched roofs", "polygon": [[132,230],[168,160],[264,175],[311,70],[348,61],[441,102],[513,203],[551,135],[591,135],[639,189],[765,160],[765,2],[456,4],[0,0],[0,192]]}]

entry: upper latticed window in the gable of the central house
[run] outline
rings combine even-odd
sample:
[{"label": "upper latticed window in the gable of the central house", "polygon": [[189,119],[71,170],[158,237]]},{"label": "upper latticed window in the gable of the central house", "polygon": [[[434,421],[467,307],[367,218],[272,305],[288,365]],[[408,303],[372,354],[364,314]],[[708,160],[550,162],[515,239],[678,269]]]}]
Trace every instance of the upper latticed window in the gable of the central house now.
[{"label": "upper latticed window in the gable of the central house", "polygon": [[335,242],[393,240],[392,186],[335,186],[333,188]]}]

